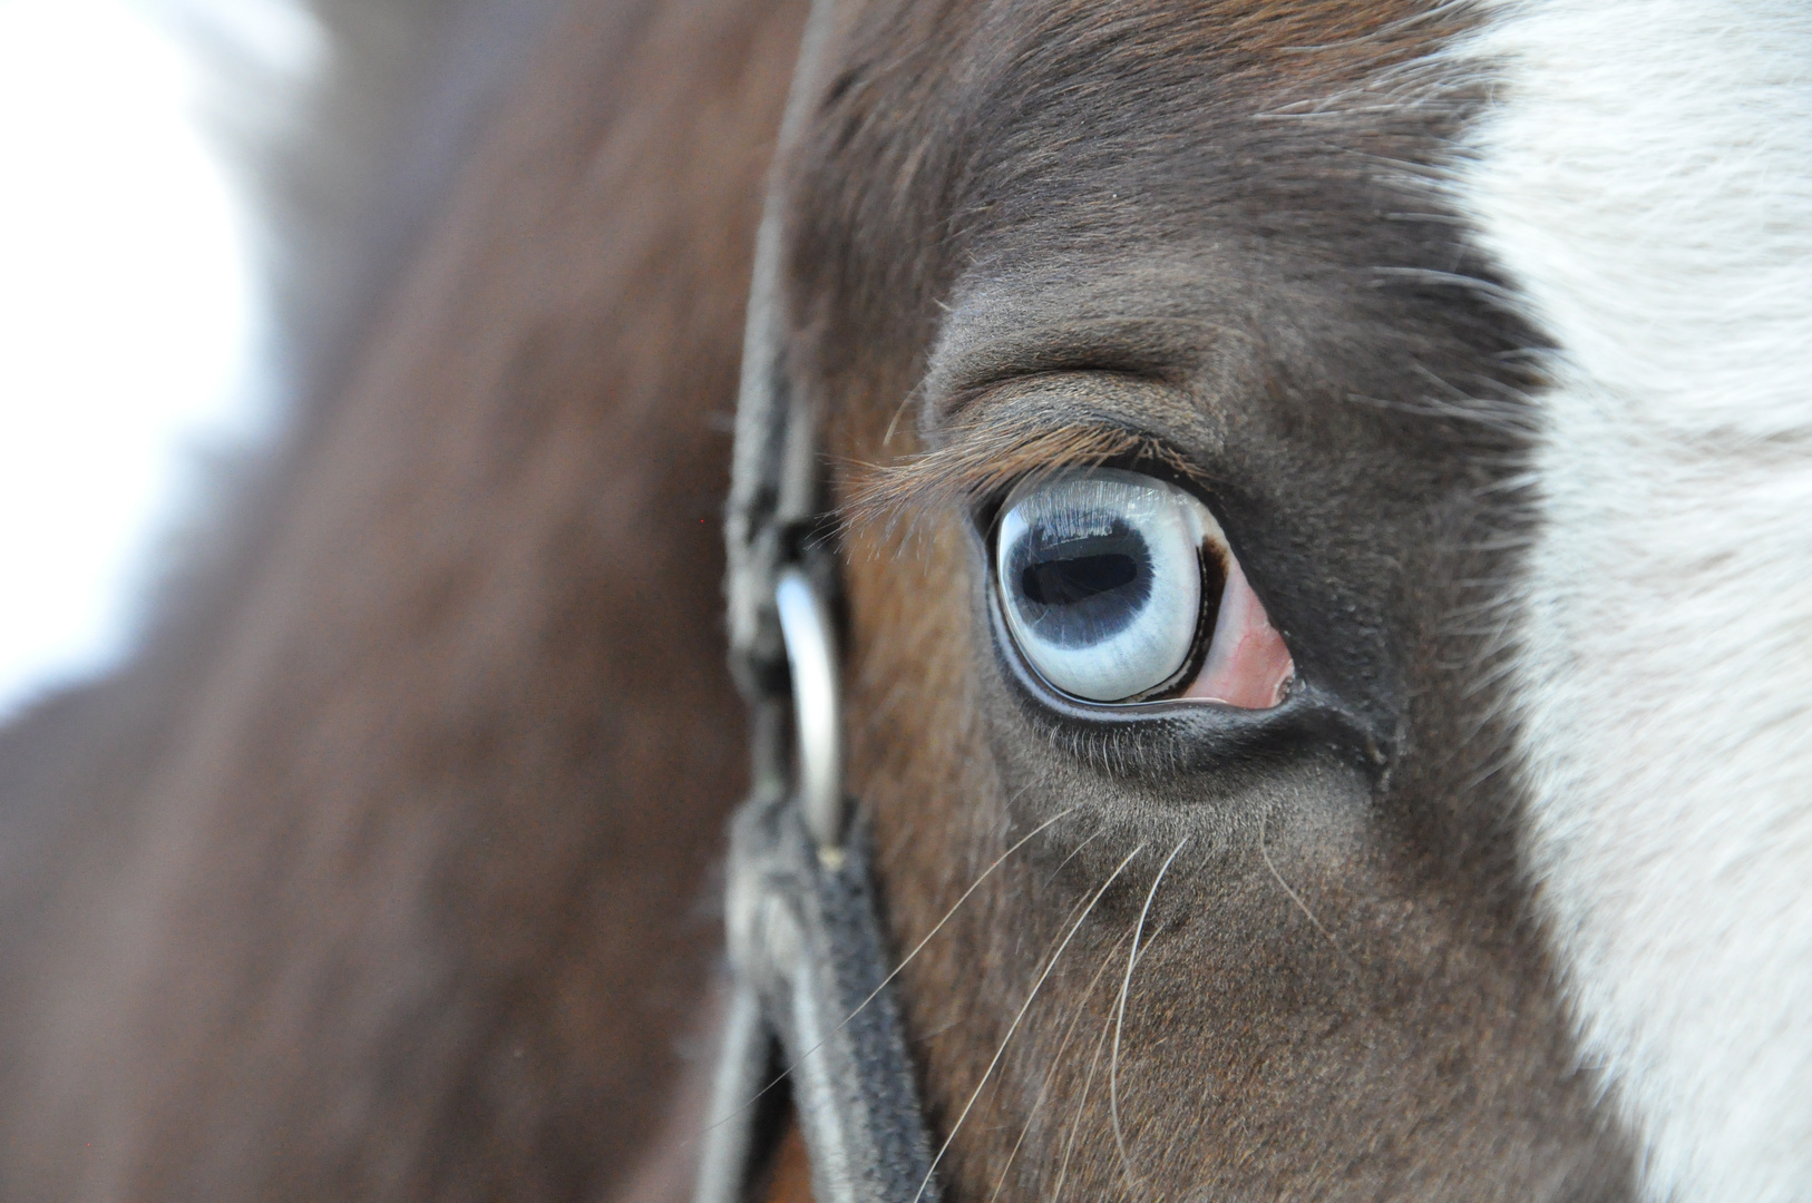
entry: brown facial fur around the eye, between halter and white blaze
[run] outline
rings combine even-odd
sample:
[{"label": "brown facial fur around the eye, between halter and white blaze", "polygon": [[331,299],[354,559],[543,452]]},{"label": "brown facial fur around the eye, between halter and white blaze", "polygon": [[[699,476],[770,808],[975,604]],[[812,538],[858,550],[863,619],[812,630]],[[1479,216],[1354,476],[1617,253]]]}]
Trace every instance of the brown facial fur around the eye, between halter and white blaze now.
[{"label": "brown facial fur around the eye, between halter and white blaze", "polygon": [[[953,1198],[1631,1190],[1524,920],[1497,649],[1460,623],[1466,582],[1515,576],[1531,337],[1415,183],[1471,100],[1413,62],[1462,16],[846,11],[794,165],[795,362],[834,453],[881,466],[844,484],[852,784],[901,946],[1075,808],[904,978]],[[1437,275],[1477,288],[1386,283]],[[1138,448],[1209,482],[1363,737],[1218,759],[1232,734],[1013,685],[942,484]]]}]

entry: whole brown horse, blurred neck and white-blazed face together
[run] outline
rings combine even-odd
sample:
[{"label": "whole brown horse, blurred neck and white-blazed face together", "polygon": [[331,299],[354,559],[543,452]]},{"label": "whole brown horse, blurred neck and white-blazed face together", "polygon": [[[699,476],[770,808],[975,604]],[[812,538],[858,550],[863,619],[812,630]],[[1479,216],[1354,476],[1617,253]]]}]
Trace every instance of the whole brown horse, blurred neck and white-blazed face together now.
[{"label": "whole brown horse, blurred neck and white-blazed face together", "polygon": [[857,1031],[890,1203],[1808,1198],[1805,14],[805,7],[574,4],[0,734],[5,1194],[687,1198],[783,1096],[739,685],[821,1187]]}]

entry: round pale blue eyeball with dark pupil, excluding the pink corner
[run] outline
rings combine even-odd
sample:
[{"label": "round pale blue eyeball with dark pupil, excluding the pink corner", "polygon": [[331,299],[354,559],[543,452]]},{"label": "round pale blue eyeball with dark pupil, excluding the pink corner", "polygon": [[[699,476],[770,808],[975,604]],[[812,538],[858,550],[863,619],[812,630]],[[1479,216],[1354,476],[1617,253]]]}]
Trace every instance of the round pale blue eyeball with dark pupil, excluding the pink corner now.
[{"label": "round pale blue eyeball with dark pupil, excluding the pink corner", "polygon": [[[995,538],[995,587],[1007,630],[1031,667],[1065,694],[1123,701],[1158,688],[1194,650],[1209,538],[1221,540],[1209,507],[1154,476],[1094,467],[1027,482],[1007,496]],[[1134,560],[1143,582],[1073,605],[1033,600],[1024,587],[1033,549],[1065,544],[1120,553],[1114,563],[1123,569],[1125,558]]]}]

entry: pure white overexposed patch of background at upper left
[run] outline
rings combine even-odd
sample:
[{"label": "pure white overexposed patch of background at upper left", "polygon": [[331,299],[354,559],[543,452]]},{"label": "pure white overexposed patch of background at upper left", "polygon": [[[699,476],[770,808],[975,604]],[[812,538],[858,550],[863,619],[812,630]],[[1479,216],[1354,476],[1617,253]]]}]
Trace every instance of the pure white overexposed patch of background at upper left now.
[{"label": "pure white overexposed patch of background at upper left", "polygon": [[290,0],[0,0],[0,719],[127,652],[205,453],[272,435],[234,138],[321,58]]}]

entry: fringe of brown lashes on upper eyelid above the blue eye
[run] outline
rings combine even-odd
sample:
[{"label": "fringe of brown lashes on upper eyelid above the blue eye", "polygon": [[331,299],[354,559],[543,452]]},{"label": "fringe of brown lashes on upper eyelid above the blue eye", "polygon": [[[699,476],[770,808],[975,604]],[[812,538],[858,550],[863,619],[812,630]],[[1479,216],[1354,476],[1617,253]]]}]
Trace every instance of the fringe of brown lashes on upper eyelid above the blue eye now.
[{"label": "fringe of brown lashes on upper eyelid above the blue eye", "polygon": [[852,527],[879,524],[893,531],[902,518],[915,522],[933,509],[973,505],[1026,476],[1111,460],[1158,462],[1201,480],[1201,471],[1169,442],[1122,420],[1055,417],[1046,406],[984,415],[959,424],[942,448],[899,464],[859,466],[841,516]]}]

